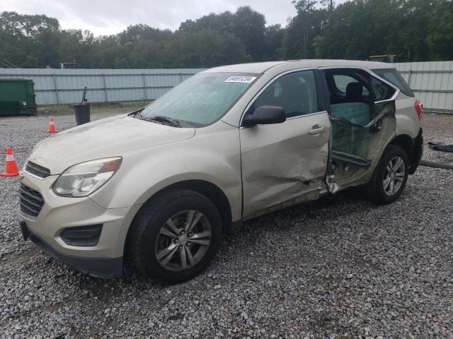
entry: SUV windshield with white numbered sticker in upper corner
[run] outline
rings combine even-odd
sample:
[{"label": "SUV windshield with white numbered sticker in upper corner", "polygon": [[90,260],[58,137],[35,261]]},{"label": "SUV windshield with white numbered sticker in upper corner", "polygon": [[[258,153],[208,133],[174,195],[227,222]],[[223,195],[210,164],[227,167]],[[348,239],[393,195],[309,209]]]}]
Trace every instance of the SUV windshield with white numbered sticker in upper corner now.
[{"label": "SUV windshield with white numbered sticker in upper corner", "polygon": [[[168,118],[182,127],[207,126],[219,120],[246,92],[258,74],[200,73],[155,100],[139,119]],[[155,119],[154,119],[155,121]]]}]

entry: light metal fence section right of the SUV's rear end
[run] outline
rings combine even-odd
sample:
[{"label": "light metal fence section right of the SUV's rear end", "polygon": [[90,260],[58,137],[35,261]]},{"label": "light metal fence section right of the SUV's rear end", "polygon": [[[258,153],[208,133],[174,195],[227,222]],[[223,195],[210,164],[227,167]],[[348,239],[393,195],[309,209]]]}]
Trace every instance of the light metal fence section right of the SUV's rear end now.
[{"label": "light metal fence section right of the SUV's rear end", "polygon": [[427,111],[453,113],[453,61],[394,64]]}]

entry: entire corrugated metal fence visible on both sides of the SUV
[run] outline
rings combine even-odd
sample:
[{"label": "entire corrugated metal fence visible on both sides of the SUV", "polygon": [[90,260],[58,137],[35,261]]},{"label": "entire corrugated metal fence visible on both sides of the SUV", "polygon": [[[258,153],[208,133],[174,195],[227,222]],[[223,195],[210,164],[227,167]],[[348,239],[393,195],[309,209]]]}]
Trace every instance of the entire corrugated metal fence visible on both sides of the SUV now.
[{"label": "entire corrugated metal fence visible on both sides of the SUV", "polygon": [[[453,113],[453,61],[394,64],[425,109]],[[0,69],[35,82],[38,105],[153,100],[202,69]]]}]

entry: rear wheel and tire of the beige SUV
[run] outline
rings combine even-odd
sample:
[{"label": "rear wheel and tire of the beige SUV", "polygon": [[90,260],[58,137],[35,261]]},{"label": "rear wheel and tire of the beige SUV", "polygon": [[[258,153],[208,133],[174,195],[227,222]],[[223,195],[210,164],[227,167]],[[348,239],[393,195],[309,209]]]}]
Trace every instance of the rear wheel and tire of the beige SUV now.
[{"label": "rear wheel and tire of the beige SUV", "polygon": [[393,203],[406,186],[409,165],[406,151],[396,145],[389,145],[366,187],[367,198],[379,205]]}]

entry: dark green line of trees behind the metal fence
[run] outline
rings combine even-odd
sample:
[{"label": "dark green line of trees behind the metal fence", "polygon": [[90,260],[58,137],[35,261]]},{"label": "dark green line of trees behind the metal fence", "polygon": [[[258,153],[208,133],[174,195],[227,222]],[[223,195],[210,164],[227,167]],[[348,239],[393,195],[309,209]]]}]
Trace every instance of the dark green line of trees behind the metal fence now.
[{"label": "dark green line of trees behind the metal fence", "polygon": [[453,60],[452,0],[292,1],[297,16],[266,25],[249,6],[180,23],[178,30],[130,25],[116,35],[64,30],[56,18],[0,14],[0,63],[21,68],[207,68],[286,59]]}]

